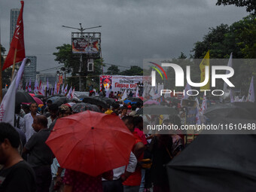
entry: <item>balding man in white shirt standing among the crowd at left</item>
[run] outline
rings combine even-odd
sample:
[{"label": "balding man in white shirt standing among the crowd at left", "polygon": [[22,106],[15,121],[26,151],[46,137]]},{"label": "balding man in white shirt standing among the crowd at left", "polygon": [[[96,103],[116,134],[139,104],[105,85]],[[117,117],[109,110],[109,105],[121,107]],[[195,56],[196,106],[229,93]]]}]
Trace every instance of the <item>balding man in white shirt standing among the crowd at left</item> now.
[{"label": "balding man in white shirt standing among the crowd at left", "polygon": [[32,123],[33,123],[34,117],[36,115],[39,115],[36,113],[36,111],[38,110],[38,104],[36,102],[32,102],[29,105],[29,109],[30,109],[30,113],[24,116],[24,126],[22,127],[22,130],[26,136],[26,141],[29,141],[30,137],[35,133],[35,130],[32,127]]}]

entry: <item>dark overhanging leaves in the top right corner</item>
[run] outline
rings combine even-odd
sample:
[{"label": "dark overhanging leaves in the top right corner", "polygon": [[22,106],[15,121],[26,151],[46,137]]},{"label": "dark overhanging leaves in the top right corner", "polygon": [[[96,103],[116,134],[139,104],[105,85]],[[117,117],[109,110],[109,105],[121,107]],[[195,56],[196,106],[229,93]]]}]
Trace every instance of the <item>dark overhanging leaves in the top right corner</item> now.
[{"label": "dark overhanging leaves in the top right corner", "polygon": [[236,5],[236,7],[246,7],[247,12],[256,14],[255,0],[218,0],[216,5]]}]

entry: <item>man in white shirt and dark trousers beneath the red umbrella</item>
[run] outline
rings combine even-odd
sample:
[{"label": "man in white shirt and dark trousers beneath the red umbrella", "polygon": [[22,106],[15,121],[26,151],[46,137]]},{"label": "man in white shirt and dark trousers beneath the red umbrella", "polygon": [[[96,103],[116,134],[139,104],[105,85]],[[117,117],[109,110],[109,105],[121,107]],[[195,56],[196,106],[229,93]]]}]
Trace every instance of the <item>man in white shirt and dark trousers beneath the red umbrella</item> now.
[{"label": "man in white shirt and dark trousers beneath the red umbrella", "polygon": [[[102,187],[104,192],[122,192],[123,184],[132,172],[135,172],[137,166],[136,156],[131,152],[129,164],[126,166],[118,167],[113,169],[113,181],[107,181],[102,178]],[[126,168],[126,169],[125,169]]]}]

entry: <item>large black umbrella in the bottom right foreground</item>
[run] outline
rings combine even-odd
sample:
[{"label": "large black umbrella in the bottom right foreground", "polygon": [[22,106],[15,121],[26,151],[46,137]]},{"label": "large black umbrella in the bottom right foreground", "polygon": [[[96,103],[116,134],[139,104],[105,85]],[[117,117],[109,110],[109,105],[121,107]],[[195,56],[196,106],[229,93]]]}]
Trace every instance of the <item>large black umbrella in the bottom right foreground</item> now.
[{"label": "large black umbrella in the bottom right foreground", "polygon": [[254,191],[256,136],[200,135],[168,165],[171,191]]}]

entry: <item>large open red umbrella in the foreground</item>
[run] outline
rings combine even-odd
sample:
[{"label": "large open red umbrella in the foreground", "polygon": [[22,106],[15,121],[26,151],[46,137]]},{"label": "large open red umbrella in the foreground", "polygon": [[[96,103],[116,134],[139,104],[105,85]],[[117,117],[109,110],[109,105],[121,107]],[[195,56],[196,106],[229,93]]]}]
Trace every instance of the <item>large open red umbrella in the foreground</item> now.
[{"label": "large open red umbrella in the foreground", "polygon": [[127,165],[134,141],[119,117],[84,111],[58,119],[46,144],[61,167],[97,176]]}]

